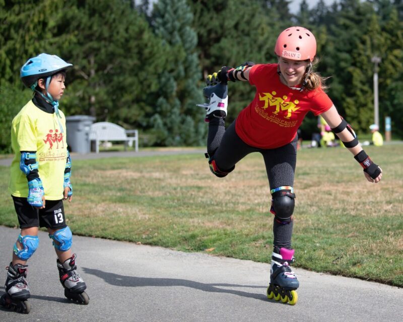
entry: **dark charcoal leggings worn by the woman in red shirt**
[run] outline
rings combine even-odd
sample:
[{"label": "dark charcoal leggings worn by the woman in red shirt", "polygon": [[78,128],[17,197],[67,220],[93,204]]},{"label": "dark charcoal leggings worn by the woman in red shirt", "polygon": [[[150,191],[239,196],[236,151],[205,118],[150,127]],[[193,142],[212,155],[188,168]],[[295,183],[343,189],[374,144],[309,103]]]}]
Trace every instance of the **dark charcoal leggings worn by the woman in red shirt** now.
[{"label": "dark charcoal leggings worn by the woman in red shirt", "polygon": [[[225,120],[212,118],[209,122],[207,151],[214,159],[217,167],[226,172],[252,152],[263,155],[270,189],[294,185],[295,165],[297,162],[296,137],[291,143],[274,149],[262,149],[246,144],[235,132],[236,120],[225,129]],[[291,249],[293,221],[281,224],[274,220],[274,246]]]}]

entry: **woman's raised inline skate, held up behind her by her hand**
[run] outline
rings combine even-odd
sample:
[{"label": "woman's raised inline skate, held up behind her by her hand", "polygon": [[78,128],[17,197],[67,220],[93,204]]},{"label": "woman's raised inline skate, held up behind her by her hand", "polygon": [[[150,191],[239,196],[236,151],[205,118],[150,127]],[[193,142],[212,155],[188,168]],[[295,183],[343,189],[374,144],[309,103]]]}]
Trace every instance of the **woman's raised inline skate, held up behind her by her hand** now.
[{"label": "woman's raised inline skate, held up behind her by her hand", "polygon": [[205,121],[209,122],[211,117],[225,118],[228,107],[228,86],[217,81],[217,73],[209,75],[206,80],[206,87],[203,89],[203,95],[208,103],[197,104],[197,106],[206,109]]}]

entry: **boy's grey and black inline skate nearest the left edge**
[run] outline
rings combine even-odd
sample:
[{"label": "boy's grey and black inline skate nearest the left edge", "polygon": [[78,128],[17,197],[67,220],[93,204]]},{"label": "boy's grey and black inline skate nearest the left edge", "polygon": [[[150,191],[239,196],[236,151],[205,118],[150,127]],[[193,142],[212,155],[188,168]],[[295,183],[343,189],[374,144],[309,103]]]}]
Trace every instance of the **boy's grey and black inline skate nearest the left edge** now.
[{"label": "boy's grey and black inline skate nearest the left edge", "polygon": [[27,277],[28,265],[10,263],[5,284],[6,293],[0,298],[0,305],[21,313],[29,313],[31,304],[27,301],[31,297]]}]

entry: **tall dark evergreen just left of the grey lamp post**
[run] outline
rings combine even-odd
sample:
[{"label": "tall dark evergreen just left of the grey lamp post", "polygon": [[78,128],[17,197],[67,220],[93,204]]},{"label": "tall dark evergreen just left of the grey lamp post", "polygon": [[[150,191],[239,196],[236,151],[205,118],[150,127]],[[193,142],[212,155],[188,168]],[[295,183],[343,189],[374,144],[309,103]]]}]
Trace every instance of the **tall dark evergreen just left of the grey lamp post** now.
[{"label": "tall dark evergreen just left of the grey lamp post", "polygon": [[[334,9],[335,7],[333,7]],[[357,131],[364,130],[365,125],[360,118],[361,108],[354,111],[351,104],[364,104],[362,107],[366,111],[369,99],[357,99],[362,97],[363,86],[369,93],[372,86],[369,72],[371,70],[371,61],[360,56],[360,46],[363,37],[368,33],[368,21],[374,13],[372,6],[368,3],[360,3],[359,0],[342,0],[340,3],[340,11],[333,12],[336,15],[335,23],[328,28],[328,43],[323,46],[323,70],[324,75],[331,75],[329,79],[329,96],[337,106],[340,114],[347,117],[348,121],[355,126]],[[361,49],[362,50],[362,49]],[[364,66],[364,65],[366,66]],[[358,70],[355,68],[360,66],[364,68],[366,76],[362,76],[362,84],[358,81],[360,77]],[[356,82],[360,84],[355,84]],[[364,102],[365,101],[365,102]],[[349,110],[349,113],[347,112]],[[368,112],[365,112],[368,113]],[[358,126],[360,124],[360,126]]]}]

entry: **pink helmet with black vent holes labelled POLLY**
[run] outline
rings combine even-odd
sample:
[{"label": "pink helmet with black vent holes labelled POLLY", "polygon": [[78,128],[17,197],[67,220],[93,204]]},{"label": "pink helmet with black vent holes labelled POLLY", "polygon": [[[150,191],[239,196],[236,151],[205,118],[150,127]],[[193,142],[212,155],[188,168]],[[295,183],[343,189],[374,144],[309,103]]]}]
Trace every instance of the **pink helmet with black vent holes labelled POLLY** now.
[{"label": "pink helmet with black vent holes labelled POLLY", "polygon": [[276,41],[276,55],[293,60],[313,60],[316,54],[315,36],[304,27],[284,30]]}]

